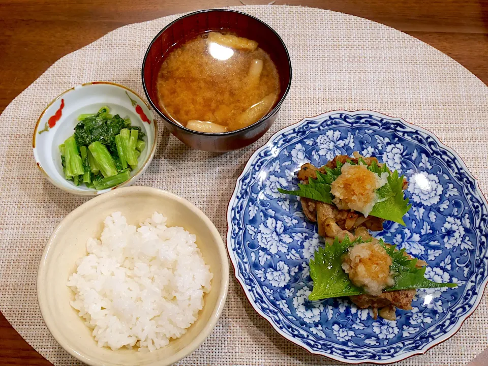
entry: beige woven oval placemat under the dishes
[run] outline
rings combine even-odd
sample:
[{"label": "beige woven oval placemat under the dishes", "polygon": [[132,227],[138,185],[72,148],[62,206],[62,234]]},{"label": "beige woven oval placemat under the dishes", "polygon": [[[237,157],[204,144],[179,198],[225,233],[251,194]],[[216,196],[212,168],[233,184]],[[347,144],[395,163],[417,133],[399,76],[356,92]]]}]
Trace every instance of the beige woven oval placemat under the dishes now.
[{"label": "beige woven oval placemat under the dishes", "polygon": [[[259,142],[224,155],[189,149],[162,129],[156,156],[138,185],[185,197],[224,236],[235,180],[253,151],[271,134],[328,110],[373,109],[435,132],[459,153],[480,180],[481,189],[488,192],[488,87],[468,70],[429,45],[370,20],[289,6],[235,9],[270,24],[290,51],[293,83],[278,120]],[[55,225],[86,199],[60,191],[36,169],[31,147],[34,125],[49,101],[83,82],[113,81],[142,95],[140,69],[146,47],[177,17],[121,27],[61,58],[0,116],[0,310],[55,365],[79,363],[57,345],[42,321],[36,297],[37,266]],[[280,337],[251,308],[233,273],[231,277],[219,324],[179,364],[336,363]],[[400,364],[465,364],[487,346],[484,298],[454,337]]]}]

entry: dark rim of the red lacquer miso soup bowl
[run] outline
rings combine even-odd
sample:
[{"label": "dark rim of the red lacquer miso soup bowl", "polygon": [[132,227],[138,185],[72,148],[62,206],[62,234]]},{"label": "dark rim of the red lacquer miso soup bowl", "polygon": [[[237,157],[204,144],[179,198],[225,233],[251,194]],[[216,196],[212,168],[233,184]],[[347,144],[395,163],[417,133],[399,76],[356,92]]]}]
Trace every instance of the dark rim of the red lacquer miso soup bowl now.
[{"label": "dark rim of the red lacquer miso soup bowl", "polygon": [[[178,123],[175,123],[173,120],[171,120],[170,118],[166,117],[166,115],[156,106],[156,104],[153,102],[153,100],[149,97],[149,93],[148,93],[147,88],[146,88],[145,77],[144,77],[144,67],[146,65],[146,60],[147,60],[147,56],[149,54],[149,50],[153,46],[153,44],[157,41],[157,39],[159,38],[159,36],[161,36],[161,34],[163,32],[165,32],[169,27],[171,27],[173,24],[175,24],[176,22],[180,21],[181,19],[184,19],[184,18],[193,16],[193,15],[196,15],[196,14],[209,13],[209,12],[237,13],[237,14],[245,15],[245,16],[247,16],[249,18],[252,18],[252,19],[260,22],[264,26],[268,27],[270,29],[270,31],[272,33],[274,33],[276,37],[278,37],[278,40],[280,41],[281,45],[285,49],[285,53],[286,53],[286,56],[287,56],[287,59],[288,59],[288,66],[290,68],[290,78],[288,80],[288,85],[285,88],[285,93],[283,94],[283,97],[281,97],[280,100],[278,101],[278,103],[276,104],[276,106],[273,109],[271,109],[268,113],[266,113],[262,118],[260,118],[259,120],[257,120],[252,125],[249,125],[247,127],[241,128],[239,130],[228,131],[228,132],[212,132],[212,133],[208,133],[208,132],[200,132],[200,131],[195,131],[195,130],[188,129],[185,126],[182,126],[182,125],[180,125]],[[142,87],[144,89],[144,94],[146,95],[147,100],[149,101],[149,103],[153,107],[153,109],[159,114],[159,116],[161,118],[163,118],[167,123],[169,123],[170,125],[178,128],[178,129],[181,129],[183,131],[189,132],[189,133],[194,134],[194,135],[217,137],[217,136],[232,136],[232,135],[237,135],[237,134],[239,134],[241,132],[245,132],[245,131],[251,130],[252,128],[255,128],[257,125],[262,124],[269,116],[277,113],[280,110],[281,105],[285,101],[285,99],[286,99],[286,97],[288,95],[288,92],[290,91],[293,70],[292,70],[292,66],[291,66],[290,53],[288,52],[288,48],[286,47],[285,42],[283,42],[283,39],[280,37],[280,35],[278,34],[278,32],[276,32],[275,29],[273,29],[270,25],[268,25],[267,23],[265,23],[261,19],[256,18],[255,16],[252,16],[250,14],[243,13],[243,12],[240,12],[240,11],[237,11],[237,10],[231,10],[231,9],[205,9],[205,10],[199,10],[199,11],[196,11],[196,12],[192,12],[192,13],[185,14],[183,16],[180,16],[179,18],[173,20],[171,23],[167,24],[163,29],[161,29],[161,31],[158,32],[158,34],[149,43],[149,46],[147,47],[147,50],[146,50],[146,52],[144,54],[144,58],[142,60],[141,75],[142,75]]]}]

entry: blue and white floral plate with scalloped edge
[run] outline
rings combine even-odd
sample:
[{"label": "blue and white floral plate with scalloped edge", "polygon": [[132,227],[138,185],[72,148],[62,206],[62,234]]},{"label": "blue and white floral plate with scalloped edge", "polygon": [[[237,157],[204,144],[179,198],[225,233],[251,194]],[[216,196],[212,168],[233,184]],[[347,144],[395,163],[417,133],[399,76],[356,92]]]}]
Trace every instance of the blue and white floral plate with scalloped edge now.
[{"label": "blue and white floral plate with scalloped edge", "polygon": [[[348,299],[311,302],[309,259],[322,245],[295,197],[295,172],[336,155],[376,156],[409,180],[406,227],[375,234],[429,263],[426,277],[454,289],[417,290],[412,311],[374,320]],[[348,363],[391,363],[451,337],[478,306],[488,281],[488,203],[461,158],[432,133],[372,111],[333,111],[275,135],[237,179],[227,211],[227,249],[253,308],[283,337]]]}]

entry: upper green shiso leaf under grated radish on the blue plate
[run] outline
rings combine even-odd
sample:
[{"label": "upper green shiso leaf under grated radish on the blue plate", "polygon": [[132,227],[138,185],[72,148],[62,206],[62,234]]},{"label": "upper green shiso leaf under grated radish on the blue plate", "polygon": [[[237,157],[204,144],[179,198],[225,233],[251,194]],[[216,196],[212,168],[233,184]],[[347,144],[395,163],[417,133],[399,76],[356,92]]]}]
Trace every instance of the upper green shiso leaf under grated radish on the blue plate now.
[{"label": "upper green shiso leaf under grated radish on the blue plate", "polygon": [[[355,165],[352,161],[348,161],[348,163]],[[367,165],[361,158],[358,160],[358,164]],[[332,200],[334,196],[330,193],[330,185],[341,175],[342,166],[343,164],[338,161],[337,167],[334,169],[324,167],[326,174],[317,171],[317,179],[309,178],[308,185],[298,184],[299,189],[296,191],[288,191],[281,188],[278,188],[278,191],[283,194],[306,197],[333,204]],[[387,184],[376,191],[378,202],[373,206],[369,215],[405,225],[403,216],[410,209],[411,205],[408,204],[408,198],[404,198],[404,192],[402,190],[403,175],[399,176],[396,170],[392,173],[386,164],[379,167],[375,161],[368,166],[368,170],[378,174],[378,176],[381,176],[385,172],[388,173]]]}]

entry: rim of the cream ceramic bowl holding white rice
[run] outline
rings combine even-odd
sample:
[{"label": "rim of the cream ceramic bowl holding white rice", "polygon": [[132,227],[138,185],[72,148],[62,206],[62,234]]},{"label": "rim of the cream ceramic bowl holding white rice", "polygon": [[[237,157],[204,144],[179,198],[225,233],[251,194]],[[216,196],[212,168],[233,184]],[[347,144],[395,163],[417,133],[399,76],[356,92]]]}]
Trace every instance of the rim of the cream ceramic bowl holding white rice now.
[{"label": "rim of the cream ceramic bowl holding white rice", "polygon": [[[77,352],[77,350],[75,348],[72,348],[68,344],[65,337],[63,336],[63,333],[61,331],[59,331],[59,328],[57,328],[54,325],[52,314],[48,311],[48,304],[47,304],[46,296],[43,295],[44,294],[43,284],[46,282],[46,277],[45,277],[46,271],[44,268],[46,265],[46,261],[47,261],[53,240],[55,239],[59,230],[63,227],[63,225],[66,223],[67,220],[69,220],[73,217],[76,217],[83,210],[96,209],[97,205],[102,200],[110,200],[113,196],[116,196],[116,195],[132,195],[132,196],[135,195],[135,196],[137,196],[139,193],[149,193],[151,195],[158,195],[158,196],[165,197],[165,198],[172,198],[172,199],[175,199],[177,202],[181,203],[182,205],[191,209],[197,216],[199,216],[204,221],[206,226],[212,232],[214,240],[216,241],[216,244],[217,244],[218,255],[222,261],[222,271],[220,272],[220,273],[222,273],[221,285],[219,288],[215,288],[215,290],[219,291],[219,295],[217,298],[217,306],[212,311],[212,314],[210,315],[210,319],[206,323],[205,327],[202,329],[202,331],[200,333],[198,333],[196,335],[195,339],[192,342],[188,343],[185,347],[181,348],[178,352],[174,353],[172,356],[167,357],[165,360],[159,360],[159,361],[148,363],[148,364],[146,364],[146,366],[170,365],[170,364],[177,362],[180,359],[188,356],[189,354],[191,354],[193,351],[195,351],[203,343],[203,341],[208,337],[208,335],[210,335],[210,333],[214,330],[215,326],[217,325],[217,322],[220,319],[220,316],[222,315],[222,311],[225,307],[225,301],[227,298],[227,293],[229,290],[229,281],[230,281],[230,275],[229,275],[230,269],[229,269],[226,246],[225,246],[224,240],[222,239],[222,235],[220,234],[219,230],[217,230],[214,223],[211,222],[211,220],[204,214],[204,212],[200,208],[195,206],[193,203],[191,203],[187,199],[182,198],[182,197],[180,197],[174,193],[164,191],[164,190],[161,190],[158,188],[142,187],[142,186],[125,187],[125,188],[121,188],[121,189],[116,190],[116,191],[110,191],[107,194],[100,195],[98,197],[90,199],[89,201],[87,201],[87,202],[81,204],[80,206],[76,207],[67,216],[65,216],[63,218],[63,220],[61,220],[59,222],[59,224],[56,226],[56,228],[53,230],[51,236],[49,237],[49,239],[47,241],[46,246],[44,247],[44,251],[43,251],[41,259],[39,261],[39,266],[38,266],[38,271],[37,271],[37,279],[36,279],[36,290],[37,290],[37,299],[38,299],[38,304],[39,304],[39,310],[41,311],[41,316],[42,316],[44,323],[46,324],[49,332],[51,333],[52,337],[56,340],[57,343],[59,343],[59,345],[65,351],[70,353],[76,359],[78,359],[81,362],[84,362],[90,366],[109,366],[110,364],[98,362],[97,360],[90,358],[89,355],[86,355],[85,351]],[[215,275],[215,273],[214,273],[214,275]],[[212,288],[212,290],[214,290],[214,288]],[[212,291],[212,290],[210,290],[210,291]],[[93,342],[95,342],[95,340],[93,340]],[[75,344],[75,347],[77,347],[76,344]],[[83,353],[85,353],[85,355]]]}]

